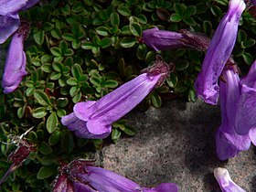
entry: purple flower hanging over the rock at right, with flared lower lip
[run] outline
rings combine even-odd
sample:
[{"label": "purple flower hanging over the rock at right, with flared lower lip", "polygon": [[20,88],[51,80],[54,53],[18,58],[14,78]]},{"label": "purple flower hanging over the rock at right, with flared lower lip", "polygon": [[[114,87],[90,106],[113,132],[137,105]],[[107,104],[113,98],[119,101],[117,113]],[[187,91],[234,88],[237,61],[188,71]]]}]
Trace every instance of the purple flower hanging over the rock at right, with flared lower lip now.
[{"label": "purple flower hanging over the rock at right, with flared lower lip", "polygon": [[221,125],[216,133],[216,150],[220,160],[237,155],[248,150],[251,140],[248,135],[235,132],[236,103],[240,98],[240,78],[232,69],[224,69],[223,79],[219,82],[219,101],[221,107]]}]

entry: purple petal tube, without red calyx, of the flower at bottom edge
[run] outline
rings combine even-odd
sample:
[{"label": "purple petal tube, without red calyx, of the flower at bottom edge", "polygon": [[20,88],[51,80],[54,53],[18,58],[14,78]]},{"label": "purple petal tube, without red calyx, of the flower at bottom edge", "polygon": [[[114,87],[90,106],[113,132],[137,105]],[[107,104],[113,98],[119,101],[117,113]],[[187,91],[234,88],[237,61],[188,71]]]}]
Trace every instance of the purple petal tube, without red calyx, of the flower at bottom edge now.
[{"label": "purple petal tube, without red calyx, of the flower at bottom edge", "polygon": [[135,192],[141,187],[132,180],[119,176],[112,171],[101,167],[87,166],[87,174],[80,174],[81,180],[89,183],[91,187],[101,192]]}]

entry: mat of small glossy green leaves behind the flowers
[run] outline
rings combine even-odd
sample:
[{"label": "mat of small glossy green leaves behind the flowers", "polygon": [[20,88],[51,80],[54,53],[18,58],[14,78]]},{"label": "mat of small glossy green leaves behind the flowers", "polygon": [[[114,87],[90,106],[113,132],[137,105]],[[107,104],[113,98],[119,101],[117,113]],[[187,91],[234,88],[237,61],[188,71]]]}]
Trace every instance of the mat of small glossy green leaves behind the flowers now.
[{"label": "mat of small glossy green leaves behind the flowers", "polygon": [[[7,135],[21,135],[36,145],[25,162],[0,187],[1,191],[48,191],[59,163],[88,156],[103,140],[78,139],[60,123],[79,101],[96,101],[128,80],[155,59],[141,37],[144,29],[187,28],[212,37],[228,1],[168,0],[52,0],[21,13],[31,21],[27,39],[27,72],[18,90],[0,92],[0,177],[10,164],[6,156],[15,150]],[[255,59],[256,20],[248,10],[240,20],[233,57],[241,70]],[[204,53],[190,49],[159,51],[176,70],[143,104],[161,107],[163,96],[177,94],[196,101],[194,80]],[[246,64],[246,65],[245,65]],[[244,67],[246,66],[246,67]],[[166,97],[165,97],[166,98]],[[147,109],[147,106],[145,107]],[[124,119],[112,123],[112,142],[136,130]],[[16,179],[16,185],[14,184]]]}]

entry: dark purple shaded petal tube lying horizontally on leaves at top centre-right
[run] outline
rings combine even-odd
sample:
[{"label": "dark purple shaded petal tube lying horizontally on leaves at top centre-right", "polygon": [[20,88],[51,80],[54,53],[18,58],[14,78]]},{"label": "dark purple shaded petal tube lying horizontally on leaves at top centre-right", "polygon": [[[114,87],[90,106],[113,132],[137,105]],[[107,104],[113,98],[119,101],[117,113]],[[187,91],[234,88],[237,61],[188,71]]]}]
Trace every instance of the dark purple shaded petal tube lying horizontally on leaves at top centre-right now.
[{"label": "dark purple shaded petal tube lying horizontally on leaves at top centre-right", "polygon": [[146,29],[143,31],[142,41],[157,50],[165,50],[171,48],[183,48],[184,44],[180,41],[184,36],[180,33],[159,30],[157,27]]}]

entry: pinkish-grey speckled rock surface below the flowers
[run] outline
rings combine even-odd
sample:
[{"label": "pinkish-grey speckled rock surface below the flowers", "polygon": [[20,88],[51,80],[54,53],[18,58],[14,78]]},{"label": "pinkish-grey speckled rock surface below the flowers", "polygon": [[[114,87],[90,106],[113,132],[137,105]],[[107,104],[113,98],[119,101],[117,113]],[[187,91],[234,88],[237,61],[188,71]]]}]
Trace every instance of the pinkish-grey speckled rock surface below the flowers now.
[{"label": "pinkish-grey speckled rock surface below the flowers", "polygon": [[141,186],[174,182],[181,192],[220,191],[213,170],[221,166],[240,187],[256,191],[254,146],[225,162],[215,153],[220,118],[219,106],[202,101],[168,101],[161,109],[133,111],[127,119],[138,133],[105,146],[102,165]]}]

